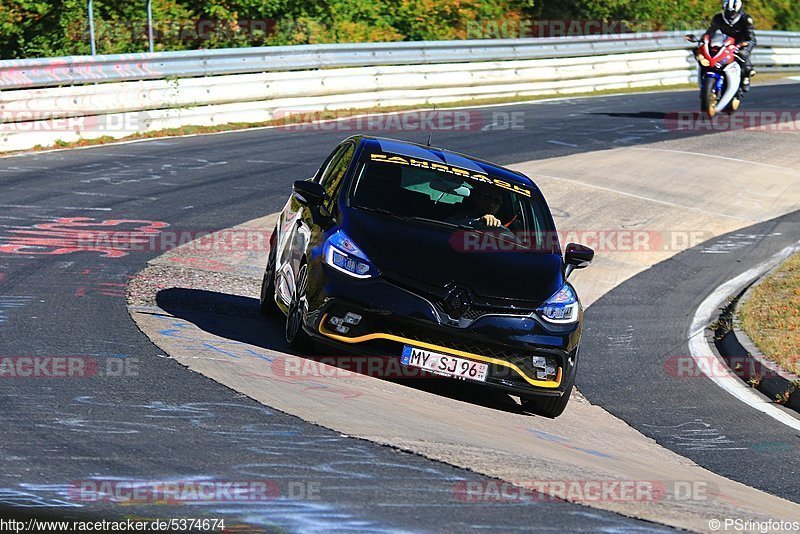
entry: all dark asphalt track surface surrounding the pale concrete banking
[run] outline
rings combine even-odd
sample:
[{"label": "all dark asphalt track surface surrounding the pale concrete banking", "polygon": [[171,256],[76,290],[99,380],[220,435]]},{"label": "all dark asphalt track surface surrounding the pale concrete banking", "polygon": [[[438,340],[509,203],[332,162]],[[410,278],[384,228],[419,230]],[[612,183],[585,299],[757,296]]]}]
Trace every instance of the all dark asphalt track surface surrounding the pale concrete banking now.
[{"label": "all dark asphalt track surface surrounding the pale concrete banking", "polygon": [[[796,84],[757,87],[745,105],[793,109],[797,91]],[[664,126],[664,113],[693,109],[696,98],[655,93],[484,109],[484,128],[434,132],[433,144],[512,164],[707,138],[714,134]],[[509,113],[524,114],[524,129],[503,129],[496,119]],[[190,372],[163,357],[125,305],[128,280],[163,251],[86,250],[76,237],[109,227],[131,239],[167,227],[207,232],[273,213],[291,183],[309,177],[346,135],[256,130],[0,160],[0,358],[69,357],[89,369],[84,377],[0,379],[0,506],[23,515],[224,517],[243,530],[666,530],[566,502],[463,502],[459,483],[476,480],[466,470],[305,423]],[[796,241],[800,218],[745,233],[728,254],[706,254],[714,242],[705,243],[594,303],[582,349],[593,357],[583,360],[578,387],[664,447],[800,502],[796,432],[704,378],[663,373],[669,357],[687,354],[703,297]],[[706,440],[692,439],[698,430]],[[120,506],[75,495],[87,481],[264,479],[282,498]]]}]

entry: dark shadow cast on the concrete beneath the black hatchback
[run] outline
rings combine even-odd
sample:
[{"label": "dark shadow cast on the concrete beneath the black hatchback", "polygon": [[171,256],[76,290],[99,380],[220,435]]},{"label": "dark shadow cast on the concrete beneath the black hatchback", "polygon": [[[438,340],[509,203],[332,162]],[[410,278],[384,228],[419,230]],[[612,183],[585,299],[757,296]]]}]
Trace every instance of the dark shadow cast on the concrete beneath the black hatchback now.
[{"label": "dark shadow cast on the concrete beneath the black hatchback", "polygon": [[[259,312],[258,299],[205,291],[199,289],[170,288],[156,295],[158,306],[171,315],[188,321],[199,329],[234,341],[247,343],[264,349],[294,354],[308,360],[326,358],[330,364],[332,356],[350,356],[331,349],[317,347],[318,354],[298,354],[286,345],[281,319],[270,320]],[[350,362],[348,358],[342,358]],[[341,369],[356,372],[352,366],[337,365]],[[367,375],[368,373],[361,373]],[[373,376],[369,374],[369,376]],[[520,405],[509,395],[470,384],[461,380],[430,376],[422,378],[375,377],[395,384],[411,387],[454,400],[469,402],[494,410],[512,413],[523,412]]]}]

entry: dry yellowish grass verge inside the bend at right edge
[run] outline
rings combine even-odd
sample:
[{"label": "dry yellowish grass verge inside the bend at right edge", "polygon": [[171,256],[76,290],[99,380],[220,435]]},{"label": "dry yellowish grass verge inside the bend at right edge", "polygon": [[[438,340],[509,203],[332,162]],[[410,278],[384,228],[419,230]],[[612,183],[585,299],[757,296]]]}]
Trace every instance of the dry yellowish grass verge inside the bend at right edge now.
[{"label": "dry yellowish grass verge inside the bend at right edge", "polygon": [[764,356],[800,375],[800,253],[750,291],[739,319]]}]

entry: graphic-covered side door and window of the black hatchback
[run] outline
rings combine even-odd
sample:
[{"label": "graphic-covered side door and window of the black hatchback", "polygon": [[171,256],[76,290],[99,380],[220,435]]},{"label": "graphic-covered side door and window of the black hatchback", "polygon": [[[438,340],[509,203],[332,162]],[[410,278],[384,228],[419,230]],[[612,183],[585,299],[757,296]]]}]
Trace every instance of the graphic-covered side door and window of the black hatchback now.
[{"label": "graphic-covered side door and window of the black hatchback", "polygon": [[[355,143],[346,141],[339,145],[328,156],[328,159],[313,178],[328,193],[329,198],[323,205],[323,209],[327,213],[332,213],[332,210],[335,209],[336,192],[347,173],[347,168],[353,160],[354,153]],[[279,298],[284,304],[288,305],[291,299],[294,291],[295,275],[299,271],[303,256],[308,250],[308,244],[315,236],[318,238],[323,232],[324,229],[320,228],[318,222],[312,217],[311,210],[292,196],[284,210],[284,218],[280,223],[279,253],[276,257],[278,277],[275,287],[278,290]]]}]

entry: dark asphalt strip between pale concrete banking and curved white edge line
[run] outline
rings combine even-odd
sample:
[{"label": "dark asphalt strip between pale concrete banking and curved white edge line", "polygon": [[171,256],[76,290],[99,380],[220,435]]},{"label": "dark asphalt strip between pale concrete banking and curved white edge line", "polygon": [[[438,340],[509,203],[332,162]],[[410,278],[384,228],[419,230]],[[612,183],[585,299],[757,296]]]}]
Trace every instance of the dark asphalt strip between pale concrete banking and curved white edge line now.
[{"label": "dark asphalt strip between pale concrete banking and curved white edge line", "polygon": [[797,431],[733,400],[707,377],[678,371],[678,359],[690,355],[687,333],[701,301],[798,236],[795,212],[703,243],[607,293],[587,311],[582,350],[593,356],[584,360],[580,390],[715,473],[800,502]]}]

